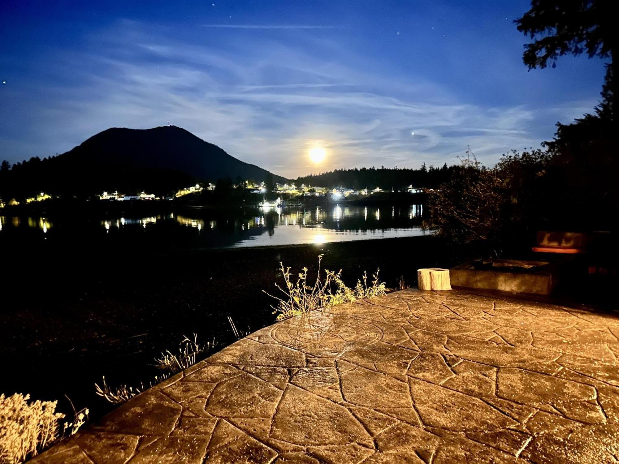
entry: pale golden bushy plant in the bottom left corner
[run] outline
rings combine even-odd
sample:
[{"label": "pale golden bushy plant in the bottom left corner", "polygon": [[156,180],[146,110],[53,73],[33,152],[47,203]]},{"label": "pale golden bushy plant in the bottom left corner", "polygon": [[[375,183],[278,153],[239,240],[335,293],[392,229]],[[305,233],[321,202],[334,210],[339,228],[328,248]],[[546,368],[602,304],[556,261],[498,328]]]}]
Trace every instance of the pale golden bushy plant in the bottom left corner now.
[{"label": "pale golden bushy plant in the bottom left corner", "polygon": [[54,442],[75,434],[88,420],[87,408],[80,411],[73,408],[73,420],[61,425],[65,415],[56,411],[57,401],[28,400],[30,395],[22,393],[15,393],[10,397],[0,395],[1,463],[24,462]]}]

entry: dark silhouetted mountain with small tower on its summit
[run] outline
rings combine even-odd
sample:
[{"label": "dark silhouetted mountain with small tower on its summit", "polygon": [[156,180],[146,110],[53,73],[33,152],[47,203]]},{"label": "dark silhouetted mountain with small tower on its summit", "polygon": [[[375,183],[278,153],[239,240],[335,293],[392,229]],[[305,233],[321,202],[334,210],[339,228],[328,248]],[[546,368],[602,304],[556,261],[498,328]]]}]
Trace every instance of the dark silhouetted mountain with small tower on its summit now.
[{"label": "dark silhouetted mountain with small tower on its summit", "polygon": [[[31,158],[9,171],[4,196],[45,191],[92,195],[145,190],[166,194],[197,181],[230,177],[264,181],[269,171],[238,160],[176,126],[152,129],[113,127],[53,158]],[[275,182],[287,179],[272,174]]]}]

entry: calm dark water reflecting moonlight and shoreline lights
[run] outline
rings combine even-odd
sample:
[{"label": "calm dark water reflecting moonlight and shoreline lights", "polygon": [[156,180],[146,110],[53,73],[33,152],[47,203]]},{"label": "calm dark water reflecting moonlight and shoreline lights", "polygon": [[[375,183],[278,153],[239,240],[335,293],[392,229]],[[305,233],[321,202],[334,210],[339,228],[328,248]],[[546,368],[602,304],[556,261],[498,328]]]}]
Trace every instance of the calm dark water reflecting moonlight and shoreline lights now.
[{"label": "calm dark water reflecting moonlight and shoreline lights", "polygon": [[0,242],[15,244],[210,248],[330,243],[423,235],[422,205],[314,208],[238,208],[227,212],[196,208],[149,217],[103,219],[0,216]]}]

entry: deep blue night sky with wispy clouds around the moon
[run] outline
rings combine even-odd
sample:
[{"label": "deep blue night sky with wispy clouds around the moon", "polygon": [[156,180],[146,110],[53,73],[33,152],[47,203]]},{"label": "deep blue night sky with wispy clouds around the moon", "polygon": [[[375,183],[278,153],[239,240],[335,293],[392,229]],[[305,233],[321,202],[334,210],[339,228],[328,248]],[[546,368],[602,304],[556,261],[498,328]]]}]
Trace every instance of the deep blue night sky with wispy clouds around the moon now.
[{"label": "deep blue night sky with wispy clouds around the moon", "polygon": [[[93,3],[96,3],[93,5]],[[599,59],[522,64],[527,1],[0,0],[0,158],[170,121],[296,177],[487,165],[599,101]],[[414,133],[414,134],[413,134]],[[309,148],[327,150],[312,165]]]}]

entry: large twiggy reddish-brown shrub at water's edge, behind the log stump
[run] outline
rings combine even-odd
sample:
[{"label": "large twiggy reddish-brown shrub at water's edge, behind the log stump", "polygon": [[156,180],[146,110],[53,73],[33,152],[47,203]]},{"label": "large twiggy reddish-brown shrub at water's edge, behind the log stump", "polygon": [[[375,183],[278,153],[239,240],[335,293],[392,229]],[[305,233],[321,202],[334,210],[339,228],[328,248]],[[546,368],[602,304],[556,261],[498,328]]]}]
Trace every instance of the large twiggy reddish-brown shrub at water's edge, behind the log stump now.
[{"label": "large twiggy reddish-brown shrub at water's edge, behind the log stump", "polygon": [[427,191],[423,228],[465,254],[525,251],[534,231],[547,223],[541,214],[548,201],[547,153],[512,152],[491,169],[470,150],[467,155],[449,182]]}]

